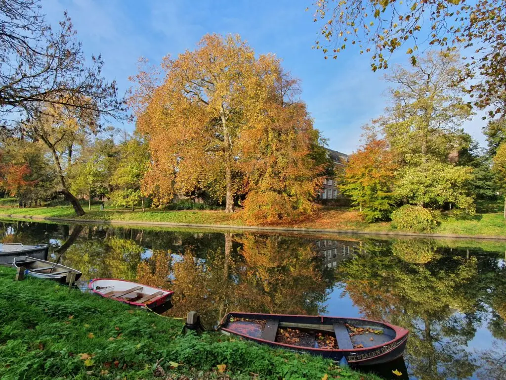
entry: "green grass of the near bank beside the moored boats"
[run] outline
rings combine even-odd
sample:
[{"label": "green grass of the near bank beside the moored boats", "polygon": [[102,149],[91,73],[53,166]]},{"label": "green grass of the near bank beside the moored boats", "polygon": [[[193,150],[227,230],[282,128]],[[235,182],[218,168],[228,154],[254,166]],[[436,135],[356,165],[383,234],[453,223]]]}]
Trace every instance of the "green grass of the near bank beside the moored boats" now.
[{"label": "green grass of the near bank beside the moored boats", "polygon": [[[179,320],[48,280],[14,281],[0,267],[0,378],[376,379],[321,357],[214,332],[182,334]],[[173,362],[171,364],[171,362]],[[218,364],[226,364],[220,374]],[[159,366],[159,368],[158,368]],[[176,368],[171,368],[176,367]],[[181,376],[181,377],[180,377]]]}]

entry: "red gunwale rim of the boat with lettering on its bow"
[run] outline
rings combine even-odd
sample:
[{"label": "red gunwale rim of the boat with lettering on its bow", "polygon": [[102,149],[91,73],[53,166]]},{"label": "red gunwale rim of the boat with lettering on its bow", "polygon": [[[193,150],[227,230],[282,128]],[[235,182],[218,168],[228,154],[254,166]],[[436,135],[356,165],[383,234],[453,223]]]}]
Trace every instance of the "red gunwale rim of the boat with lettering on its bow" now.
[{"label": "red gunwale rim of the boat with lettering on its bow", "polygon": [[[344,349],[320,349],[320,348],[312,348],[312,347],[305,347],[305,346],[295,346],[295,345],[287,345],[285,343],[279,343],[277,341],[270,341],[270,340],[266,340],[266,339],[262,339],[262,338],[256,338],[256,337],[253,337],[253,336],[250,336],[250,335],[246,335],[246,334],[241,334],[239,332],[236,332],[236,331],[233,331],[233,330],[230,330],[226,327],[221,327],[222,330],[224,331],[227,331],[231,334],[234,334],[234,335],[240,335],[242,337],[245,337],[247,339],[251,339],[251,340],[258,340],[258,341],[261,341],[262,343],[267,343],[267,344],[270,344],[270,345],[275,345],[275,346],[283,346],[283,347],[289,347],[291,349],[295,349],[295,350],[308,350],[308,351],[315,351],[315,352],[350,352],[350,353],[353,353],[353,352],[363,352],[363,351],[371,351],[371,350],[377,350],[377,349],[380,349],[384,346],[388,346],[392,343],[394,343],[395,341],[399,341],[399,345],[403,343],[403,341],[405,339],[407,339],[407,336],[409,335],[409,330],[408,329],[405,329],[405,328],[402,328],[400,326],[396,326],[396,325],[392,325],[388,322],[382,322],[382,321],[375,321],[375,320],[372,320],[372,319],[365,319],[365,318],[347,318],[347,317],[332,317],[332,316],[321,316],[321,315],[296,315],[296,314],[265,314],[265,313],[239,313],[239,312],[230,312],[228,313],[227,315],[225,315],[225,317],[223,317],[222,319],[222,322],[220,325],[223,325],[225,322],[227,322],[227,318],[229,316],[232,316],[233,314],[245,314],[245,315],[251,315],[251,316],[270,316],[270,317],[304,317],[304,318],[321,318],[322,321],[323,321],[323,318],[327,318],[327,319],[348,319],[348,320],[357,320],[357,321],[366,321],[366,322],[375,322],[375,323],[379,323],[379,324],[382,324],[382,325],[385,325],[387,327],[390,327],[392,330],[395,331],[396,333],[396,336],[394,339],[392,340],[389,340],[381,345],[376,345],[376,346],[370,346],[370,347],[364,347],[364,348],[354,348],[354,349],[350,349],[350,350],[344,350]],[[271,318],[273,319],[273,318]],[[339,345],[339,342],[338,342],[338,345]],[[397,345],[397,346],[399,346]],[[396,347],[397,347],[396,346]],[[377,357],[380,357],[380,356],[383,356],[387,353],[389,353],[390,351],[394,350],[396,347],[393,347],[392,349],[382,353],[381,355],[377,355],[375,356],[376,358]],[[367,359],[363,359],[363,360],[367,360]],[[357,362],[359,361],[362,361],[362,360],[357,360]]]}]

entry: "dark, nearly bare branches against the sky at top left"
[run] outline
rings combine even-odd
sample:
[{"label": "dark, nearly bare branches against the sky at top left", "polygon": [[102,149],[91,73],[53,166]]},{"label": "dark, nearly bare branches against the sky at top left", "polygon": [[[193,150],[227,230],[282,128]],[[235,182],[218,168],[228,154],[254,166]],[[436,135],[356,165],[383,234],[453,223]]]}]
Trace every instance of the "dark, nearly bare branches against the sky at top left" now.
[{"label": "dark, nearly bare branches against the sky at top left", "polygon": [[38,0],[0,1],[3,134],[22,133],[19,120],[31,122],[50,105],[83,115],[121,117],[124,107],[116,97],[116,83],[101,77],[101,56],[92,56],[92,65],[87,65],[67,14],[52,28],[40,8]]}]

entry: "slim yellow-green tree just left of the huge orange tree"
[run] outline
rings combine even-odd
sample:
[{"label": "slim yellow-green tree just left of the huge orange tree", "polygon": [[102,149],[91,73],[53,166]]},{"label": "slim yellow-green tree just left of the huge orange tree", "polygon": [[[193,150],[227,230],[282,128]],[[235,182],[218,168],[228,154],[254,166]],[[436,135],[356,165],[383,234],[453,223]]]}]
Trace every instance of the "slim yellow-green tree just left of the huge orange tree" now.
[{"label": "slim yellow-green tree just left of the huge orange tree", "polygon": [[118,166],[111,178],[114,191],[111,199],[116,205],[132,207],[141,202],[144,211],[144,197],[141,182],[150,164],[148,145],[138,138],[125,141],[120,148]]}]

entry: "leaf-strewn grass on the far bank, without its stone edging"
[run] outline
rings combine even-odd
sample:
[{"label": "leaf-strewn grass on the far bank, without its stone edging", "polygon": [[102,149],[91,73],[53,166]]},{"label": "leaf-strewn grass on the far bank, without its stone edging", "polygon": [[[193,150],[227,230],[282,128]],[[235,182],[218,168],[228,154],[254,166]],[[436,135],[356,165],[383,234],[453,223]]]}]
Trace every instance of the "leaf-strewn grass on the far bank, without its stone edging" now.
[{"label": "leaf-strewn grass on the far bank, without its stone edging", "polygon": [[[506,223],[499,206],[487,205],[481,212],[470,217],[456,217],[443,214],[441,224],[434,231],[439,234],[460,234],[475,236],[506,236]],[[106,207],[101,211],[98,205],[93,205],[91,211],[83,216],[76,216],[71,206],[17,208],[1,207],[0,214],[17,214],[26,216],[72,218],[75,220],[124,220],[139,222],[171,222],[219,225],[246,225],[242,212],[226,214],[224,211],[207,210],[159,210],[147,209],[131,211],[123,208]],[[277,225],[280,226],[280,225]],[[312,229],[354,230],[365,232],[399,231],[390,222],[366,223],[360,213],[355,210],[340,207],[322,207],[320,212],[306,220],[281,226],[304,227]]]}]

